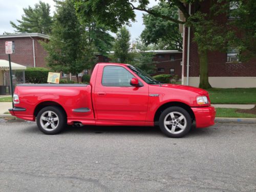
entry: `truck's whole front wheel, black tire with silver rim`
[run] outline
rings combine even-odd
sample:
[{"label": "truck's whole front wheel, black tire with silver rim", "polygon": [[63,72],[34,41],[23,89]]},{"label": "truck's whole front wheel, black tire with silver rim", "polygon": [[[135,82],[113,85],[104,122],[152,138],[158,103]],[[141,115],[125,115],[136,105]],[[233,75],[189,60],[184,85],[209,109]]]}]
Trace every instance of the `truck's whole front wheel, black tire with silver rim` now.
[{"label": "truck's whole front wheel, black tire with silver rim", "polygon": [[[175,118],[172,118],[171,116]],[[170,108],[165,109],[160,115],[159,126],[161,131],[167,137],[180,138],[190,131],[191,117],[183,108],[180,108],[179,106],[171,106]]]}]

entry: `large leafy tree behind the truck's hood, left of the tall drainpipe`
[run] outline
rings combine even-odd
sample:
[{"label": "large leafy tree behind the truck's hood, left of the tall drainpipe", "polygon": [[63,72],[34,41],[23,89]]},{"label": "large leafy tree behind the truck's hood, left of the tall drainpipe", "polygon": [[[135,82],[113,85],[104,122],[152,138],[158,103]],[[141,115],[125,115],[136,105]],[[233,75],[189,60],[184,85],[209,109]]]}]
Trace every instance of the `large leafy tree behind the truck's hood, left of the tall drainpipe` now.
[{"label": "large leafy tree behind the truck's hood, left of the tall drainpipe", "polygon": [[[152,10],[178,19],[178,8],[169,8],[165,2],[160,2]],[[151,14],[143,14],[143,23],[145,29],[141,33],[141,38],[146,45],[159,44],[162,49],[182,51],[182,37],[177,23]]]}]

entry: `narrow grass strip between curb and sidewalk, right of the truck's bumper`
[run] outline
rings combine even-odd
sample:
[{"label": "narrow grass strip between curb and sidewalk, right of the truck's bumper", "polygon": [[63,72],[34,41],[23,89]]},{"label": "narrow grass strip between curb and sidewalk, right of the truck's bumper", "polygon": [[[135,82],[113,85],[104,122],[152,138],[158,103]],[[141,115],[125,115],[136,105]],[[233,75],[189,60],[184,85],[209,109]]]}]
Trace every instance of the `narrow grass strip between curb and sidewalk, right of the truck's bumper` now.
[{"label": "narrow grass strip between curb and sidewalk, right of the truck's bumper", "polygon": [[237,118],[256,118],[256,115],[249,113],[238,113],[237,109],[216,108],[216,117],[237,117]]}]

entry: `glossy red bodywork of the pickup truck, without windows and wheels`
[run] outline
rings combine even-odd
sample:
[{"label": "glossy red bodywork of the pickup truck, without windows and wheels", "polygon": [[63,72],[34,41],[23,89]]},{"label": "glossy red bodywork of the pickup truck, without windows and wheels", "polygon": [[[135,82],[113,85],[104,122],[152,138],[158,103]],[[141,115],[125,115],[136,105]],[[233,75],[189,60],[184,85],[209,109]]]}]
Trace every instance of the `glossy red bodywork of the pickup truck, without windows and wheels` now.
[{"label": "glossy red bodywork of the pickup truck, without windows and wheels", "polygon": [[[124,68],[139,80],[141,87],[103,86],[105,66]],[[11,111],[11,114],[31,121],[35,120],[34,113],[38,105],[54,103],[65,110],[68,124],[154,126],[157,110],[169,102],[181,102],[189,106],[199,128],[213,125],[216,114],[210,103],[197,104],[196,98],[202,95],[208,97],[207,91],[175,84],[147,84],[126,64],[120,63],[98,63],[89,85],[20,85],[16,87],[15,94],[20,101],[15,107],[25,108],[26,111]],[[74,112],[79,108],[88,108],[90,111]]]}]

